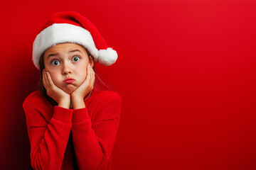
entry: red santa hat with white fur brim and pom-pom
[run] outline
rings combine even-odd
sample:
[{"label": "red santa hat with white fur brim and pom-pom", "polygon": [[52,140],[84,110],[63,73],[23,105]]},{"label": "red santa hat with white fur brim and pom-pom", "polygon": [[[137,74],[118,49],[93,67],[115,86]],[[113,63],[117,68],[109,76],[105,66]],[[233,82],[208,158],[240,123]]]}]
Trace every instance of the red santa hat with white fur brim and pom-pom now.
[{"label": "red santa hat with white fur brim and pom-pom", "polygon": [[110,66],[117,60],[117,52],[107,46],[97,28],[80,13],[56,12],[40,30],[33,42],[33,63],[39,69],[43,52],[58,43],[73,42],[85,47],[95,62]]}]

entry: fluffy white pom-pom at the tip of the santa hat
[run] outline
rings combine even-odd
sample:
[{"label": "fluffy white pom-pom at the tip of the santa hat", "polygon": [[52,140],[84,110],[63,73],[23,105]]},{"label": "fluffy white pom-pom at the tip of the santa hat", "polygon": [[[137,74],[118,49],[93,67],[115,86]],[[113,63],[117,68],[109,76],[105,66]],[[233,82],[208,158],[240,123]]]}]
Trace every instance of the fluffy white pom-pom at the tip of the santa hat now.
[{"label": "fluffy white pom-pom at the tip of the santa hat", "polygon": [[107,50],[99,50],[98,62],[105,66],[110,66],[117,61],[117,52],[111,47]]}]

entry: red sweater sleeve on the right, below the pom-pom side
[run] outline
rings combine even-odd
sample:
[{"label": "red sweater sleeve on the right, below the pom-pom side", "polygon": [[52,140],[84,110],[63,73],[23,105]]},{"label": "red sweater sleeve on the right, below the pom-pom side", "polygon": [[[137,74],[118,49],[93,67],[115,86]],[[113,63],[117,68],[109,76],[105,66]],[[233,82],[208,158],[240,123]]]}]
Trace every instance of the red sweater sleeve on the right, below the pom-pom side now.
[{"label": "red sweater sleeve on the right, below the pom-pom side", "polygon": [[105,91],[90,106],[74,110],[71,130],[80,170],[107,169],[119,127],[121,103],[119,94]]}]

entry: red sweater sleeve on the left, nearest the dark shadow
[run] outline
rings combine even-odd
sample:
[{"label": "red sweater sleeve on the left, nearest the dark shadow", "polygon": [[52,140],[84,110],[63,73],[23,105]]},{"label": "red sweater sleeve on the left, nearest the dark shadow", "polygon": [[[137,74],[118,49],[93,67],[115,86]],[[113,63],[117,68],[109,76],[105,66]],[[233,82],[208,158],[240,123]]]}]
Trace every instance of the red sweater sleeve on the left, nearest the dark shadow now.
[{"label": "red sweater sleeve on the left, nearest the dark shadow", "polygon": [[41,105],[37,98],[23,102],[31,144],[31,166],[33,169],[61,169],[72,127],[73,111],[54,106],[53,116],[48,123],[43,115],[49,110]]}]

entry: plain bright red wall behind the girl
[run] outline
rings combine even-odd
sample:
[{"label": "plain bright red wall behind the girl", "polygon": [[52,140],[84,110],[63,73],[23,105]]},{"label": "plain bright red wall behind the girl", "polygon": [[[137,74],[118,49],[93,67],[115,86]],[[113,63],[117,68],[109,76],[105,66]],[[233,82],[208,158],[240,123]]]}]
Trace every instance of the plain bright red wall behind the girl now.
[{"label": "plain bright red wall behind the girl", "polygon": [[2,1],[1,169],[31,169],[22,102],[38,30],[55,11],[95,23],[119,58],[96,65],[122,95],[112,167],[256,169],[256,2]]}]

